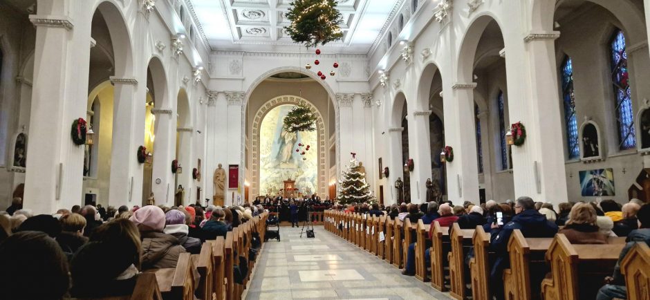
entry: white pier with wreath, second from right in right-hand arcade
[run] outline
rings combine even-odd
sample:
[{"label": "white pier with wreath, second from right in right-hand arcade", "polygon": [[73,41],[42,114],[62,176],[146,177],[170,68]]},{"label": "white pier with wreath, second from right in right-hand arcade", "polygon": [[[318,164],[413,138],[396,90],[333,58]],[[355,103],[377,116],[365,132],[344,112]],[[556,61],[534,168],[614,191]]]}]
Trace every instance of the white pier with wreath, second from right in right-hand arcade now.
[{"label": "white pier with wreath, second from right in right-hand arcade", "polygon": [[446,166],[447,191],[449,200],[455,204],[479,200],[476,132],[472,122],[475,87],[476,83],[456,83],[443,88],[445,142],[454,149],[454,161],[447,162]]}]

